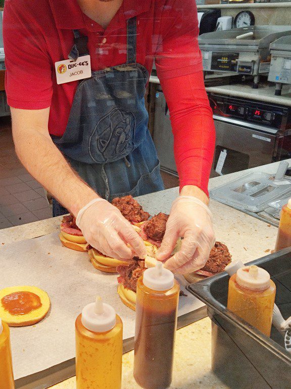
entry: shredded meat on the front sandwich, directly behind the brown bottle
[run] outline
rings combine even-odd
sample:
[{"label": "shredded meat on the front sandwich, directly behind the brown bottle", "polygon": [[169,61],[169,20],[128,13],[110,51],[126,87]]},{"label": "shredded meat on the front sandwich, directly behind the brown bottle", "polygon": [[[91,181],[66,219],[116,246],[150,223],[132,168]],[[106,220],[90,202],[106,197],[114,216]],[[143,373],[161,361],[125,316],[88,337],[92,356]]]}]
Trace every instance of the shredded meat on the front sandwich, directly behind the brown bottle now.
[{"label": "shredded meat on the front sandwich, directly behind the brown bottle", "polygon": [[124,288],[130,289],[136,292],[136,283],[143,271],[146,270],[144,267],[144,261],[139,260],[137,257],[128,265],[117,266],[117,271],[120,274],[120,279]]}]

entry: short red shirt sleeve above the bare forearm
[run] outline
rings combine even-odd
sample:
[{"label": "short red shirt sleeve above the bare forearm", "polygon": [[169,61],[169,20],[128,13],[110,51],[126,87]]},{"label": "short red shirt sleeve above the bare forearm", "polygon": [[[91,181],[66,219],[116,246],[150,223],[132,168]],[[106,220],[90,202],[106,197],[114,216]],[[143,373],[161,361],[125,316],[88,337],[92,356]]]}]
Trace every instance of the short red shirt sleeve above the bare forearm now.
[{"label": "short red shirt sleeve above the bare forearm", "polygon": [[33,4],[5,2],[5,89],[8,104],[14,108],[42,109],[51,105],[52,63],[44,35],[29,9]]}]

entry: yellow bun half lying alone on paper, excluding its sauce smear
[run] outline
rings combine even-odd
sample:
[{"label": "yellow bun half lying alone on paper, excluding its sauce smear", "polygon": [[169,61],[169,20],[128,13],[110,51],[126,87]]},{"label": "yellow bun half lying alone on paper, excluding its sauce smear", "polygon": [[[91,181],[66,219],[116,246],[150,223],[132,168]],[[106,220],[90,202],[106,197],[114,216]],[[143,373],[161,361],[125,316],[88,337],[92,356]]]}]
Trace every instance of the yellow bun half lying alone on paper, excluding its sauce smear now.
[{"label": "yellow bun half lying alone on paper, excluding its sauce smear", "polygon": [[[11,315],[1,304],[3,297],[15,292],[31,292],[36,294],[41,301],[41,306],[32,310],[29,314],[25,315]],[[0,318],[11,327],[24,327],[31,326],[40,322],[47,312],[49,312],[51,306],[50,297],[43,290],[35,286],[11,286],[0,290]]]}]

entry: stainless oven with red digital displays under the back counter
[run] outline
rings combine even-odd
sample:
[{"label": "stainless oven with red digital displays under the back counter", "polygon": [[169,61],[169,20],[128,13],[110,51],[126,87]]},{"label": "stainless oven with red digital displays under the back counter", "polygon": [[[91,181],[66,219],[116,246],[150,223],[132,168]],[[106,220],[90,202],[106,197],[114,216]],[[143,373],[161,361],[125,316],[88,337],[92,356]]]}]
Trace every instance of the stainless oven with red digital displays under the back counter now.
[{"label": "stainless oven with red digital displays under the back counter", "polygon": [[[209,94],[216,129],[211,177],[290,158],[290,107]],[[161,169],[177,175],[169,110],[156,93],[154,142]]]}]

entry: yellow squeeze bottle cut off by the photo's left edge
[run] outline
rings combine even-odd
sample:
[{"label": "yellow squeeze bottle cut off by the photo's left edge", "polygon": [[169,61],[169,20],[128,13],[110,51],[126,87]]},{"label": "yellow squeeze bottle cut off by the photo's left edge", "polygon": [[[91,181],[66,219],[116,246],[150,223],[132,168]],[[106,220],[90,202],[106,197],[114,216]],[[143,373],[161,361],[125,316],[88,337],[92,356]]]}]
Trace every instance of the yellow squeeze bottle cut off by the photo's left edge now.
[{"label": "yellow squeeze bottle cut off by the photo's left edge", "polygon": [[0,389],[14,389],[10,331],[0,319]]}]

